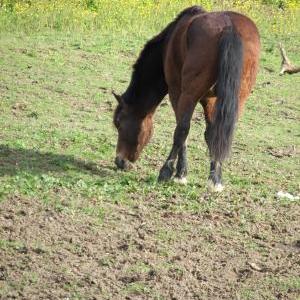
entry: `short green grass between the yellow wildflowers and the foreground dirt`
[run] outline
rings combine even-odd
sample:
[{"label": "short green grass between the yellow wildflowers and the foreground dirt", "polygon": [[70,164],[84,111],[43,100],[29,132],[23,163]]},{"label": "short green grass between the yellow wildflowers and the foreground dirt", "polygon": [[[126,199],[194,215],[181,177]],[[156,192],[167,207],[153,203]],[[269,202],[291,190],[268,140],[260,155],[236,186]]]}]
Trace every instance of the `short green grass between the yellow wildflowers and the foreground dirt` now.
[{"label": "short green grass between the yellow wildflowers and the foreground dirt", "polygon": [[[295,42],[286,40],[285,47],[297,62]],[[189,136],[187,187],[156,182],[171,147],[175,122],[170,107],[159,108],[155,135],[137,169],[114,170],[117,133],[112,126],[115,102],[110,91],[124,91],[143,43],[130,35],[126,40],[58,32],[1,37],[2,199],[11,194],[46,202],[55,198],[76,207],[82,197],[95,198],[100,205],[103,201],[131,205],[149,196],[168,202],[176,195],[182,199],[172,205],[176,210],[216,206],[215,196],[199,204],[208,174],[200,107],[195,116],[202,120],[193,122]],[[239,122],[232,158],[224,166],[227,190],[217,197],[233,203],[249,197],[273,201],[277,191],[297,193],[299,188],[299,157],[278,159],[268,152],[299,145],[295,90],[299,76],[279,77],[280,57],[274,42],[263,39],[262,44],[256,88]],[[82,209],[92,211],[89,205]]]}]

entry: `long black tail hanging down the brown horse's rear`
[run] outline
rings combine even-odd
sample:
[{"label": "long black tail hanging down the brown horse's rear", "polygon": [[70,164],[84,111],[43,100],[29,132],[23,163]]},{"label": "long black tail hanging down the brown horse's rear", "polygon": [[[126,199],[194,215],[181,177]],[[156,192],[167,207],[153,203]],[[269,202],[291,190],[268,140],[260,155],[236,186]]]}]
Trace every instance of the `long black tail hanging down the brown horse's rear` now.
[{"label": "long black tail hanging down the brown horse's rear", "polygon": [[233,26],[227,27],[219,41],[217,102],[206,141],[211,158],[223,161],[228,156],[238,113],[238,94],[243,67],[243,44]]}]

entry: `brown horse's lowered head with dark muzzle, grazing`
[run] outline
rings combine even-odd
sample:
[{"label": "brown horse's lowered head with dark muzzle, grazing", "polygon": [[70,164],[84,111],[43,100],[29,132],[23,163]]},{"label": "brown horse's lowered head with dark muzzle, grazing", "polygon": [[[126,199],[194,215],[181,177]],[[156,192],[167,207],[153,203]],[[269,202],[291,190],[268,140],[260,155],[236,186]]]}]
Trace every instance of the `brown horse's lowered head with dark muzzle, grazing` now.
[{"label": "brown horse's lowered head with dark muzzle, grazing", "polygon": [[114,113],[114,125],[118,130],[115,163],[120,169],[128,169],[139,158],[152,136],[152,114],[141,117],[124,102],[122,96],[113,95],[118,101]]}]

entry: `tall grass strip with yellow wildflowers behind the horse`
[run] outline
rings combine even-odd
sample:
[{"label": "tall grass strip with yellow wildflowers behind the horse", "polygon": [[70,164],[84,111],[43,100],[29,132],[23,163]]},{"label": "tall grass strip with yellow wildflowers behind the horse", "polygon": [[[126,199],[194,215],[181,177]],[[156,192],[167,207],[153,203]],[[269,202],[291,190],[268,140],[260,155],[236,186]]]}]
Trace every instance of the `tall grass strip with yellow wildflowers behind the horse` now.
[{"label": "tall grass strip with yellow wildflowers behind the horse", "polygon": [[156,32],[183,8],[235,10],[253,18],[261,32],[299,32],[297,0],[0,0],[0,30]]}]

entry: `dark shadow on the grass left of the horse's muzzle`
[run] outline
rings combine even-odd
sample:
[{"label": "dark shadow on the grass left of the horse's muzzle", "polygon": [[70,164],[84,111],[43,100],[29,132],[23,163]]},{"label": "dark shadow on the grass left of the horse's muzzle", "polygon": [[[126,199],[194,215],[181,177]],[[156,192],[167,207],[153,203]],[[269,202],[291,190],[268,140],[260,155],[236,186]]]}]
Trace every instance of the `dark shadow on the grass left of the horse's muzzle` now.
[{"label": "dark shadow on the grass left of the horse's muzzle", "polygon": [[38,175],[48,172],[63,173],[68,170],[101,177],[111,176],[114,173],[114,168],[105,163],[96,164],[77,159],[72,155],[43,153],[34,149],[11,148],[7,145],[0,145],[0,177],[14,176],[19,172]]}]

